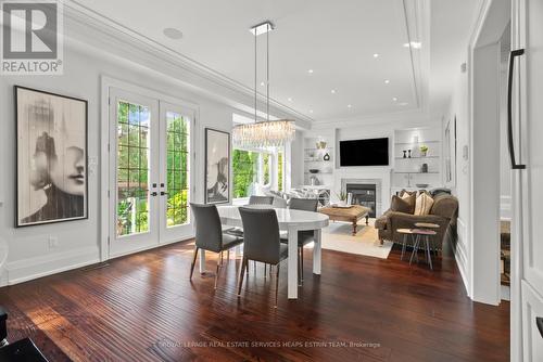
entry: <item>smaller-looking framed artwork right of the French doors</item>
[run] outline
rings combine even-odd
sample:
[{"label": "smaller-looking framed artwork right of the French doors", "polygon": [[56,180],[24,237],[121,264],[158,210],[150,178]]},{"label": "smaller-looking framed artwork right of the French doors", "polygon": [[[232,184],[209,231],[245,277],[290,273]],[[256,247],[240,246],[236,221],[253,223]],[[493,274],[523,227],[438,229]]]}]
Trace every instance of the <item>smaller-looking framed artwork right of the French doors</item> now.
[{"label": "smaller-looking framed artwork right of the French doors", "polygon": [[205,129],[205,204],[230,201],[230,133]]}]

